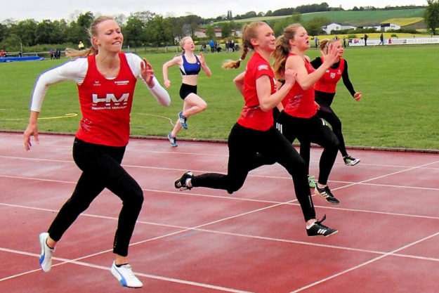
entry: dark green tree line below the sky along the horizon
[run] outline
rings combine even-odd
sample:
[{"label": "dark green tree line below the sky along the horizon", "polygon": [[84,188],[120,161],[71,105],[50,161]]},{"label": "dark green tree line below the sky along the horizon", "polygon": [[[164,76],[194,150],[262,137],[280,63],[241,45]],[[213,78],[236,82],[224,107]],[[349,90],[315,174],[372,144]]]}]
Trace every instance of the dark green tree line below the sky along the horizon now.
[{"label": "dark green tree line below the sky along the horizon", "polygon": [[[426,22],[433,24],[431,30],[435,33],[435,25],[439,24],[439,4],[438,0],[427,0]],[[416,8],[417,6],[396,6],[395,8]],[[360,7],[356,10],[376,10],[373,6],[366,8]],[[392,9],[387,7],[386,9]],[[291,22],[302,22],[301,13],[310,13],[318,11],[336,11],[343,8],[331,8],[324,2],[322,4],[310,4],[297,6],[296,8],[281,8],[277,11],[267,11],[266,13],[256,13],[249,11],[243,15],[232,15],[228,11],[227,15],[221,15],[217,18],[201,18],[198,15],[185,15],[181,17],[166,17],[157,15],[150,11],[141,11],[131,13],[127,18],[125,15],[114,15],[114,18],[121,25],[124,33],[124,44],[126,46],[173,46],[176,40],[181,37],[192,36],[195,40],[195,32],[199,27],[206,29],[206,39],[216,39],[215,29],[221,27],[222,37],[232,37],[233,30],[240,30],[242,23],[234,22],[243,18],[252,18],[257,16],[281,16],[290,15],[289,18],[282,20],[269,21],[268,24],[273,27],[276,35],[282,33],[283,27]],[[87,29],[93,22],[95,15],[90,11],[81,13],[76,20],[67,22],[61,20],[42,20],[37,22],[34,19],[26,20],[4,20],[0,23],[0,48],[6,51],[20,51],[24,46],[32,48],[33,46],[46,45],[46,49],[51,45],[78,44],[84,42],[90,46]],[[216,25],[213,23],[216,22]],[[288,23],[289,22],[289,23]],[[303,23],[308,34],[315,35],[321,33],[321,26],[327,25],[331,20],[328,18],[316,17],[308,23]],[[430,27],[430,26],[429,26]]]}]

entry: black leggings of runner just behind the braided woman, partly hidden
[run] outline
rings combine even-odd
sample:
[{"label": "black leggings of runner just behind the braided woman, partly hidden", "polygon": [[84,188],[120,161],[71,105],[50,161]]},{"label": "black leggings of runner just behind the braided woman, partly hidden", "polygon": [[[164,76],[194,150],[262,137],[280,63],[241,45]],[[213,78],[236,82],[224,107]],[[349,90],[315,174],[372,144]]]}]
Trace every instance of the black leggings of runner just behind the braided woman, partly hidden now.
[{"label": "black leggings of runner just behind the braided woman, partly hidden", "polygon": [[339,140],[329,126],[317,115],[310,118],[298,118],[292,117],[284,111],[280,112],[277,124],[290,143],[293,143],[296,138],[301,143],[300,153],[306,162],[308,173],[310,144],[317,143],[317,145],[322,146],[318,183],[326,185],[339,150]]}]

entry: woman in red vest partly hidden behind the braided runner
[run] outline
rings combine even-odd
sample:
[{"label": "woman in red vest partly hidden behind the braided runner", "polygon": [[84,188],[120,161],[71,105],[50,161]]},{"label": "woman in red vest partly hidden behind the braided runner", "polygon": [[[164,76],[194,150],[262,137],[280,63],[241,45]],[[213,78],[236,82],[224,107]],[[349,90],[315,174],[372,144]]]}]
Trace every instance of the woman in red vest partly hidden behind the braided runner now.
[{"label": "woman in red vest partly hidden behind the braided runner", "polygon": [[[302,25],[289,25],[284,34],[276,41],[275,74],[277,79],[283,79],[285,70],[297,72],[296,84],[282,101],[284,110],[277,118],[278,129],[293,143],[298,138],[301,143],[301,156],[307,163],[310,156],[310,143],[317,143],[323,148],[320,157],[320,172],[315,194],[325,198],[330,204],[339,204],[327,186],[339,148],[339,140],[325,122],[316,115],[318,105],[314,100],[314,84],[325,74],[326,70],[335,63],[338,51],[329,46],[325,62],[315,70],[310,64],[305,51],[310,48],[308,33]],[[309,169],[309,167],[308,167]]]}]

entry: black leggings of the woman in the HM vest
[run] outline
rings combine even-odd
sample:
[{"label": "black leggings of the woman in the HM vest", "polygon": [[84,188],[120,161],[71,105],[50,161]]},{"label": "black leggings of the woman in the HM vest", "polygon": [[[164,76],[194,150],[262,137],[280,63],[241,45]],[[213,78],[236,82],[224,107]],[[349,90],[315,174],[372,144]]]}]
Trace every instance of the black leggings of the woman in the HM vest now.
[{"label": "black leggings of the woman in the HM vest", "polygon": [[108,188],[122,200],[113,252],[128,255],[129,241],[142,208],[143,191],[138,183],[120,165],[125,147],[96,145],[74,139],[73,159],[82,170],[72,196],[58,212],[48,233],[59,241],[63,233],[85,211],[99,193]]}]

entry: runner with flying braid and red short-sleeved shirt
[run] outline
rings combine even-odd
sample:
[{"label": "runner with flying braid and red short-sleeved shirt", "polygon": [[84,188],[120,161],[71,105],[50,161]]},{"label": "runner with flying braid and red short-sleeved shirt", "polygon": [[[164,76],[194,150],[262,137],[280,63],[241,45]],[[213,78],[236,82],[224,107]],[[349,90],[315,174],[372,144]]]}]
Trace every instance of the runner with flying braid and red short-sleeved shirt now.
[{"label": "runner with flying braid and red short-sleeved shirt", "polygon": [[247,51],[254,50],[246,72],[235,79],[235,84],[244,96],[245,105],[228,138],[228,174],[209,173],[194,176],[191,171],[186,171],[176,180],[175,187],[207,187],[234,193],[242,187],[249,171],[261,165],[260,158],[263,157],[267,161],[278,162],[291,175],[296,197],[306,221],[308,236],[332,235],[338,231],[322,225],[325,217],[321,221],[315,218],[305,162],[291,143],[273,126],[273,108],[291,89],[296,72],[286,70],[284,86],[276,89],[275,75],[268,63],[270,53],[275,49],[275,36],[265,22],[246,25],[242,41],[244,48],[240,60],[225,65],[239,67]]}]

